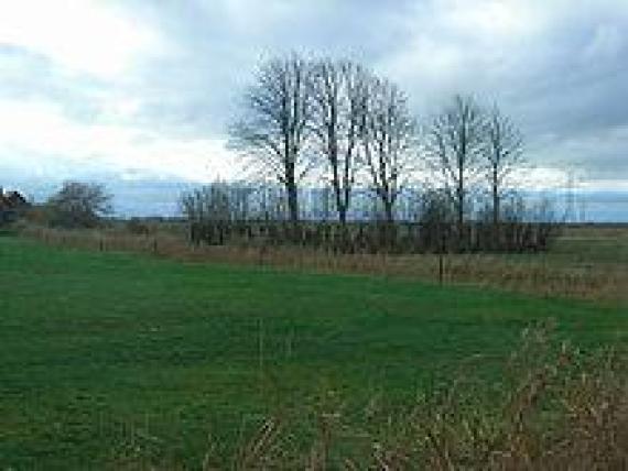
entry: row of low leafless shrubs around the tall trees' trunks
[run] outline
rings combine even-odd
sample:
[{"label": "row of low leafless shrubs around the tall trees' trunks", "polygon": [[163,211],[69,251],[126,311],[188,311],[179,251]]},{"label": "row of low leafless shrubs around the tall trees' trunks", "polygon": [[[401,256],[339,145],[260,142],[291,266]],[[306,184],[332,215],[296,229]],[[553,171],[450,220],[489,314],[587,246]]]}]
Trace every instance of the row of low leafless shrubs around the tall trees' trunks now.
[{"label": "row of low leafless shrubs around the tall trees' trunks", "polygon": [[297,223],[277,187],[218,182],[184,194],[181,206],[195,244],[296,244],[344,253],[522,252],[545,250],[557,233],[548,204],[528,208],[515,196],[505,202],[497,226],[481,207],[458,226],[446,198],[434,193],[408,190],[392,223],[367,191],[344,223],[334,218],[328,190],[303,190],[300,200]]}]

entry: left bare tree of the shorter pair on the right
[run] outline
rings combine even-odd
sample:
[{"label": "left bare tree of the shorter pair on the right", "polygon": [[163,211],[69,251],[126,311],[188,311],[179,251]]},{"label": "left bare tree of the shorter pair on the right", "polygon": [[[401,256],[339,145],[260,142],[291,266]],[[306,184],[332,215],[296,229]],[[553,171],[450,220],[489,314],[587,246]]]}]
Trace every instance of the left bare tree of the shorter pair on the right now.
[{"label": "left bare tree of the shorter pair on the right", "polygon": [[463,231],[469,193],[481,172],[485,131],[483,109],[473,97],[461,95],[454,97],[427,131],[426,152],[454,204],[458,236]]}]

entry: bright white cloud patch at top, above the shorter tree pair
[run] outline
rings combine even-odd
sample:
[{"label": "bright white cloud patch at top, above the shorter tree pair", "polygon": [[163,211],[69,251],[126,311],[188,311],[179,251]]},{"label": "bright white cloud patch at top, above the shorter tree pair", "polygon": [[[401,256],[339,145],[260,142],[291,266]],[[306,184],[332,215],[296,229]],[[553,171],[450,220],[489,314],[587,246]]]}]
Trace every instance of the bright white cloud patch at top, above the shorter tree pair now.
[{"label": "bright white cloud patch at top, above the shorter tree pair", "polygon": [[416,2],[403,23],[405,41],[387,52],[379,69],[411,91],[421,113],[455,92],[499,89],[539,46],[551,14],[523,0]]}]

